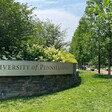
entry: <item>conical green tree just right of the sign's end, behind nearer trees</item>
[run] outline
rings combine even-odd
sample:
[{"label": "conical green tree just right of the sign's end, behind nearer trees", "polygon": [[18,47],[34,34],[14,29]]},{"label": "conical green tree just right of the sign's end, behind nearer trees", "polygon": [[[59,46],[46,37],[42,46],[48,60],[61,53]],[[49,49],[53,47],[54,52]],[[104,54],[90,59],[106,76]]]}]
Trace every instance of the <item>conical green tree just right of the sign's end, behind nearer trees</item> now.
[{"label": "conical green tree just right of the sign's end, behind nearer trees", "polygon": [[91,32],[87,19],[82,17],[70,45],[70,52],[75,55],[80,67],[90,61],[91,53],[93,53],[90,46]]}]

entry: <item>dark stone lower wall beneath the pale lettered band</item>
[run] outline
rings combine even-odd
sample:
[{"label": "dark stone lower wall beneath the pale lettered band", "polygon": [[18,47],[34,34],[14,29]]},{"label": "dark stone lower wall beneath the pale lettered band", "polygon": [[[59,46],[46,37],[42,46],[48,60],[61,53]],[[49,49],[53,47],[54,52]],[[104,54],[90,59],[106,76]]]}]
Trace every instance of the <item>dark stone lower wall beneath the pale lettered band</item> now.
[{"label": "dark stone lower wall beneath the pale lettered band", "polygon": [[41,75],[41,76],[1,76],[0,99],[42,95],[44,93],[59,91],[75,86],[80,77],[75,74],[68,75]]}]

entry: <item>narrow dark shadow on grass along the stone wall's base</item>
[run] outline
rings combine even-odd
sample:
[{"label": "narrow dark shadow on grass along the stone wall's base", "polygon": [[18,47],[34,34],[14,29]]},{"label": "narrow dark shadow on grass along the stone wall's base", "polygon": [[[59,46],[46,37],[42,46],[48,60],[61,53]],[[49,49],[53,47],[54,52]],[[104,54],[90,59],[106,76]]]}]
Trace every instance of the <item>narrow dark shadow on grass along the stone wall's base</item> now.
[{"label": "narrow dark shadow on grass along the stone wall's base", "polygon": [[49,95],[56,95],[59,92],[63,92],[63,91],[78,87],[78,86],[80,86],[80,84],[81,84],[81,77],[80,77],[80,81],[78,83],[75,83],[71,87],[66,87],[66,88],[63,88],[63,89],[60,89],[60,90],[49,91],[49,92],[42,93],[42,94],[34,94],[34,95],[31,95],[31,96],[18,96],[18,97],[14,97],[14,98],[0,99],[0,103],[5,103],[5,102],[8,102],[8,101],[9,102],[10,101],[17,101],[17,100],[20,100],[21,102],[24,102],[24,101],[27,101],[27,100],[35,99],[37,97],[40,98],[42,96],[46,97],[46,96],[49,96]]}]

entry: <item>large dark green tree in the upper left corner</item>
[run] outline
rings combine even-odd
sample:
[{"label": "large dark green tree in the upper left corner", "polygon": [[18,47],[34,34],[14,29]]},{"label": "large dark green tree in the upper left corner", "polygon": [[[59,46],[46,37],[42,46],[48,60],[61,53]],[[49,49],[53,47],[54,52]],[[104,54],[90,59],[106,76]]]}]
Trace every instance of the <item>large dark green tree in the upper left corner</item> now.
[{"label": "large dark green tree in the upper left corner", "polygon": [[33,8],[14,0],[0,0],[0,51],[12,52],[33,33]]}]

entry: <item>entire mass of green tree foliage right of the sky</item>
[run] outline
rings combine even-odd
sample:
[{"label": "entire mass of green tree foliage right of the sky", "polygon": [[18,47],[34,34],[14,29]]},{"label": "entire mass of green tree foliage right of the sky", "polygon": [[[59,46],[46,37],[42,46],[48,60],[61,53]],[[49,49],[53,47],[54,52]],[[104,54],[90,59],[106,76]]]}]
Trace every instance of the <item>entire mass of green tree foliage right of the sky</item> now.
[{"label": "entire mass of green tree foliage right of the sky", "polygon": [[[112,1],[87,0],[85,14],[71,42],[72,52],[79,64],[100,64],[112,60]],[[99,59],[97,59],[99,57]]]}]

